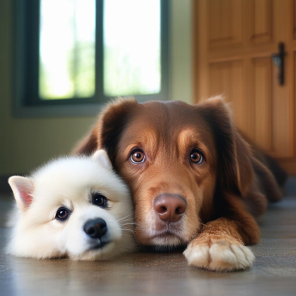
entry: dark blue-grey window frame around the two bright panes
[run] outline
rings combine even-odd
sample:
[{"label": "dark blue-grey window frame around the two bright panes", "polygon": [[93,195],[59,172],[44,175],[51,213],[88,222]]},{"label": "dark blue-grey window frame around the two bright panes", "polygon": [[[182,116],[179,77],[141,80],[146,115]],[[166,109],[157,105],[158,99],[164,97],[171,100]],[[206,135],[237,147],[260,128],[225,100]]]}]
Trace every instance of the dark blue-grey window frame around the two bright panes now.
[{"label": "dark blue-grey window frame around the two bright panes", "polygon": [[[75,116],[97,114],[110,100],[103,92],[103,0],[96,1],[95,94],[88,98],[41,100],[39,84],[39,0],[14,1],[13,87],[16,116]],[[169,0],[160,0],[161,83],[157,94],[134,95],[138,102],[168,99]],[[30,73],[30,75],[26,75]],[[131,94],[132,95],[132,94]]]}]

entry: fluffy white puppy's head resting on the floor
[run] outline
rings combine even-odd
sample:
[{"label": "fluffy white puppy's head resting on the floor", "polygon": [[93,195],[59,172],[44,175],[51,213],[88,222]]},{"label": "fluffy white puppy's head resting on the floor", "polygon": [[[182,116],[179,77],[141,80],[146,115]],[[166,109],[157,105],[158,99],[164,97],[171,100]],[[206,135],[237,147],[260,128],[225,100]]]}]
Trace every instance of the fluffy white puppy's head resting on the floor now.
[{"label": "fluffy white puppy's head resting on the floor", "polygon": [[105,260],[135,248],[132,198],[104,150],[53,160],[9,184],[18,208],[10,253]]}]

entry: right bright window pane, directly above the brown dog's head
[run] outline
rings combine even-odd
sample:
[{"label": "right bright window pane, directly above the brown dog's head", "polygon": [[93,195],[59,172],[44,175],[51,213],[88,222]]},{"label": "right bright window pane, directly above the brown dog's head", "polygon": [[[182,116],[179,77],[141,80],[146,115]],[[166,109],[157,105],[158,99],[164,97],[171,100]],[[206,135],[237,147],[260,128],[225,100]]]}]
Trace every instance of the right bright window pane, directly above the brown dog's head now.
[{"label": "right bright window pane, directly above the brown dog's head", "polygon": [[104,93],[160,92],[160,0],[104,0]]}]

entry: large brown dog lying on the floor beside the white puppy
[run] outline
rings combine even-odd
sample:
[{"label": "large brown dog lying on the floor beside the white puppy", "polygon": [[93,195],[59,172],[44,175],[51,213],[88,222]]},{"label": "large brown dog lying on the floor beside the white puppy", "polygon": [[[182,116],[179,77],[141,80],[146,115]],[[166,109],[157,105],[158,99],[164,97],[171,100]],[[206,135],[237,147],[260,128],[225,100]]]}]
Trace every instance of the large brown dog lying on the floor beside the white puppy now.
[{"label": "large brown dog lying on the floor beside the white puppy", "polygon": [[[266,210],[266,197],[282,194],[263,165],[272,161],[254,156],[220,97],[196,106],[119,99],[75,152],[101,148],[131,187],[140,244],[165,250],[188,244],[189,264],[209,270],[252,265],[244,246],[260,240],[252,214]],[[284,172],[272,163],[283,183]]]}]

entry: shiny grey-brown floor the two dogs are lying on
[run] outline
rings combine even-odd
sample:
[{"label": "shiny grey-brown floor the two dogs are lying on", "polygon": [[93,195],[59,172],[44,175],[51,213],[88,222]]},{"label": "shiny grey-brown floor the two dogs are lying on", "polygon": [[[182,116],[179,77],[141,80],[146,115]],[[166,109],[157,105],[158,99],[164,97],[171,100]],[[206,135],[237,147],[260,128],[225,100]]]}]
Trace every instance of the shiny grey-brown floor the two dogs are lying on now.
[{"label": "shiny grey-brown floor the two dogs are lying on", "polygon": [[7,257],[4,217],[11,200],[0,196],[1,295],[296,295],[293,194],[260,219],[262,241],[252,246],[255,265],[232,273],[190,268],[181,252],[137,253],[110,262]]}]

